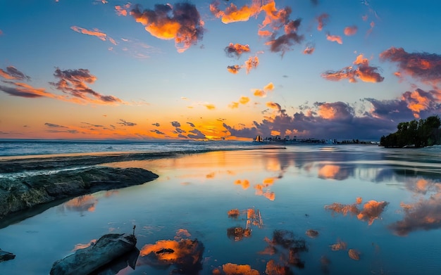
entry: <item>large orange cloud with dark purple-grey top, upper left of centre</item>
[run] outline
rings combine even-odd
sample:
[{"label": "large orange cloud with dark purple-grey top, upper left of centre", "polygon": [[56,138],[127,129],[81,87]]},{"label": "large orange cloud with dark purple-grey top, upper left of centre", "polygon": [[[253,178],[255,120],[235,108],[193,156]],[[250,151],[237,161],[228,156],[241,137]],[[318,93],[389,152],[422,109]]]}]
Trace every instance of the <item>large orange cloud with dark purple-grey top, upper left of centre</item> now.
[{"label": "large orange cloud with dark purple-grey top, upper left of centre", "polygon": [[145,26],[145,30],[159,39],[175,39],[175,47],[179,53],[190,48],[202,38],[204,21],[193,4],[184,2],[171,6],[157,4],[154,10],[139,10],[139,6],[130,11],[137,23]]}]

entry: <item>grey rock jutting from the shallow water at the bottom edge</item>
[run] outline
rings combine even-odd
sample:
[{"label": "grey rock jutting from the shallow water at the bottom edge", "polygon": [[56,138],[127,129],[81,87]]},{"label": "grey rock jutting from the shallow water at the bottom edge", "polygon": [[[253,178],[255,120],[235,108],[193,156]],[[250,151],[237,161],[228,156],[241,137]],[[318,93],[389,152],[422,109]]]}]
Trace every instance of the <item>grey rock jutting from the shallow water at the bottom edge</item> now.
[{"label": "grey rock jutting from the shallow water at the bottom edge", "polygon": [[[51,275],[90,274],[136,249],[132,234],[107,234],[88,248],[54,262]],[[133,265],[134,266],[134,265]]]}]

